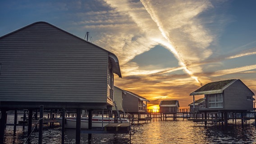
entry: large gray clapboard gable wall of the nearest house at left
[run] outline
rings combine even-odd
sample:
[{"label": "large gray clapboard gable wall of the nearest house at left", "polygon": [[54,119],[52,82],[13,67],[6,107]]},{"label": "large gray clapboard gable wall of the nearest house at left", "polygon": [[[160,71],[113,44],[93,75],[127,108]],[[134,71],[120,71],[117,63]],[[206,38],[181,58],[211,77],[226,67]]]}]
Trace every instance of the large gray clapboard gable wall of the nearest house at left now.
[{"label": "large gray clapboard gable wall of the nearest house at left", "polygon": [[108,52],[46,23],[2,37],[0,63],[0,101],[107,101]]}]

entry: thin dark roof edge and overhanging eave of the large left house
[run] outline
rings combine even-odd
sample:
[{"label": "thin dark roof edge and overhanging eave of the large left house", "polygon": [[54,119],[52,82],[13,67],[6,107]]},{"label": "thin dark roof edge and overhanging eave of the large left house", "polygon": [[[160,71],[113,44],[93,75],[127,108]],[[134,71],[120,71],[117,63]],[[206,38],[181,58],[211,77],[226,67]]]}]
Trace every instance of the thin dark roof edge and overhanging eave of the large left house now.
[{"label": "thin dark roof edge and overhanging eave of the large left house", "polygon": [[[32,23],[32,24],[27,25],[27,26],[25,26],[25,27],[22,27],[22,28],[20,28],[20,29],[18,29],[18,30],[16,30],[16,31],[10,32],[10,33],[8,33],[8,34],[6,34],[6,35],[4,35],[4,36],[1,36],[0,39],[4,38],[4,37],[6,37],[6,36],[9,36],[9,35],[11,35],[11,34],[13,34],[13,33],[15,33],[15,32],[21,31],[21,30],[23,30],[23,29],[25,29],[25,28],[27,28],[27,27],[31,27],[32,25],[36,25],[36,24],[38,24],[38,23],[48,24],[48,25],[50,25],[50,26],[52,26],[52,27],[55,27],[55,28],[59,29],[60,31],[64,31],[63,29],[60,29],[59,27],[56,27],[56,26],[54,26],[54,25],[52,25],[52,24],[50,24],[50,23],[40,21],[40,22],[35,22],[35,23]],[[69,34],[69,35],[71,35],[71,36],[74,36],[74,37],[76,37],[76,38],[78,38],[78,39],[83,40],[82,38],[80,38],[80,37],[78,37],[78,36],[75,36],[75,35],[73,35],[73,34],[67,32],[67,31],[64,31],[64,32],[67,33],[67,34]],[[87,43],[90,43],[91,45],[94,45],[94,46],[96,46],[96,47],[98,47],[98,48],[100,48],[100,49],[103,49],[103,48],[101,48],[100,46],[95,45],[95,44],[93,44],[93,43],[91,43],[91,42],[89,42],[89,41],[86,41],[86,40],[83,40],[83,41],[84,41],[84,42],[87,42]],[[121,75],[121,70],[120,70],[120,66],[119,66],[119,60],[118,60],[117,56],[116,56],[114,53],[111,53],[110,51],[108,51],[108,50],[106,50],[106,49],[103,49],[103,50],[105,50],[105,51],[107,51],[107,52],[109,53],[110,62],[112,63],[112,66],[113,66],[113,67],[112,67],[112,68],[113,68],[113,72],[114,72],[115,74],[117,74],[119,77],[122,77],[122,75]]]}]

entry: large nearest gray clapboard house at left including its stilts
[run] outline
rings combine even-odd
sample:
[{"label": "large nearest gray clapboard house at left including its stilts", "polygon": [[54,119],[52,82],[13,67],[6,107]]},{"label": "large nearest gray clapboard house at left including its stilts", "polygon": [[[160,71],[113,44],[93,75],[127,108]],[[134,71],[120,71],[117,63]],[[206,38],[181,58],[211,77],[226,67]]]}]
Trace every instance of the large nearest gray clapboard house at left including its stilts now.
[{"label": "large nearest gray clapboard house at left including its stilts", "polygon": [[[32,23],[0,37],[0,144],[4,143],[6,113],[40,110],[38,143],[42,143],[44,110],[77,112],[76,144],[80,143],[81,110],[111,110],[114,73],[121,76],[117,56],[46,22]],[[64,123],[64,122],[63,122]],[[64,126],[62,130],[64,144]]]}]

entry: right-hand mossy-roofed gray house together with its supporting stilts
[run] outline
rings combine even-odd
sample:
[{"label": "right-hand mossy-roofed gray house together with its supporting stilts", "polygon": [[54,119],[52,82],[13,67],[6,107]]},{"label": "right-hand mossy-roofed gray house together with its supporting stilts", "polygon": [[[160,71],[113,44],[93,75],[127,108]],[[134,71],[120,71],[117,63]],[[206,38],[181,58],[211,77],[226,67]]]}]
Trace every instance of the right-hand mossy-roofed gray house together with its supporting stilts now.
[{"label": "right-hand mossy-roofed gray house together with its supporting stilts", "polygon": [[[195,101],[195,95],[204,94],[201,104]],[[224,121],[228,124],[228,113],[233,115],[241,113],[242,126],[246,112],[253,111],[254,93],[239,79],[210,82],[195,90],[190,95],[193,96],[191,112],[204,114],[203,119],[192,117],[192,121]],[[197,104],[198,103],[198,107]],[[207,115],[215,115],[215,118],[208,118]]]}]

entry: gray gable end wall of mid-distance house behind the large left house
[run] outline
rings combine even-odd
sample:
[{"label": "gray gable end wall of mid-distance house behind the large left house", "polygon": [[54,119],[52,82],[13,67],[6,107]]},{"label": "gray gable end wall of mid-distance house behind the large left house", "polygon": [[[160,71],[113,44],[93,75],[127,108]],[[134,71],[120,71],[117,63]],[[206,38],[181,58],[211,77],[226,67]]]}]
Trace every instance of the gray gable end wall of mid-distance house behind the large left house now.
[{"label": "gray gable end wall of mid-distance house behind the large left house", "polygon": [[123,110],[125,112],[138,112],[138,98],[131,94],[123,94]]}]

